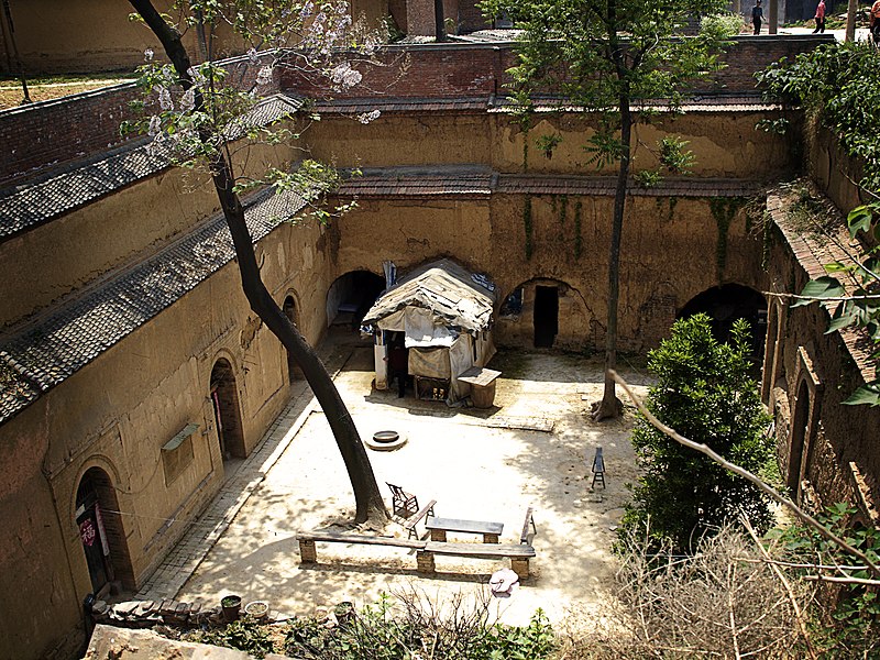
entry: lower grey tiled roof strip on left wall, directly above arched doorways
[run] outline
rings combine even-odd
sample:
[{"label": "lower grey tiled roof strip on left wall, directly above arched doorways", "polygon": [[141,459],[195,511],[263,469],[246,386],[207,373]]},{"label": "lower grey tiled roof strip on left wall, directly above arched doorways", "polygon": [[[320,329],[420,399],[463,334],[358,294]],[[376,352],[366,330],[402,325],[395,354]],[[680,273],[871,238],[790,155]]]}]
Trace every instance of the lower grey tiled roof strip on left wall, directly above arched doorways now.
[{"label": "lower grey tiled roof strip on left wall, directly above arched doorways", "polygon": [[[264,191],[249,201],[256,242],[296,215],[292,193]],[[0,424],[58,385],[232,260],[222,216],[94,289],[53,306],[0,339]]]}]

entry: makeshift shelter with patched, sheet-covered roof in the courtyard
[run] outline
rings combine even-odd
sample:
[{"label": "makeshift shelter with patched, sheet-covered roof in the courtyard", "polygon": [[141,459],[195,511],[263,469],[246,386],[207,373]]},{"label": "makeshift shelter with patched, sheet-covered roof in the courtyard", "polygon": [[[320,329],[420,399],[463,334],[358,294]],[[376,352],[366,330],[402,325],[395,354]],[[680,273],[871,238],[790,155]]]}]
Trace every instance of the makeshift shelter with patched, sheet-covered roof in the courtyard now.
[{"label": "makeshift shelter with patched, sheet-covered roof in the courtyard", "polygon": [[388,387],[388,333],[403,332],[416,395],[425,397],[427,388],[442,392],[449,400],[466,396],[470,385],[458,376],[485,365],[495,354],[496,299],[495,285],[485,275],[450,260],[407,274],[376,299],[363,320],[374,336],[376,388]]}]

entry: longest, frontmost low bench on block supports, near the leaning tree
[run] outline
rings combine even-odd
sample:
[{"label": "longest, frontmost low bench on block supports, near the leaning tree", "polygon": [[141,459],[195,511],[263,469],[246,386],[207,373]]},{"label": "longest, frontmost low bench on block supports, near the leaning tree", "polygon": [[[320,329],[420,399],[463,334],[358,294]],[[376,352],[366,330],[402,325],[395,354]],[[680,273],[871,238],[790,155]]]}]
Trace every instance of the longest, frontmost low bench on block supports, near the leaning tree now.
[{"label": "longest, frontmost low bench on block supports, near the leaning tree", "polygon": [[510,560],[510,568],[519,575],[520,580],[525,580],[529,576],[529,559],[536,556],[535,548],[525,543],[516,546],[499,546],[495,543],[447,543],[334,531],[301,531],[297,534],[296,538],[299,542],[301,563],[315,563],[318,561],[318,552],[315,547],[316,542],[391,546],[415,549],[416,568],[419,573],[437,572],[433,560],[435,554],[466,557],[470,559],[508,558]]}]

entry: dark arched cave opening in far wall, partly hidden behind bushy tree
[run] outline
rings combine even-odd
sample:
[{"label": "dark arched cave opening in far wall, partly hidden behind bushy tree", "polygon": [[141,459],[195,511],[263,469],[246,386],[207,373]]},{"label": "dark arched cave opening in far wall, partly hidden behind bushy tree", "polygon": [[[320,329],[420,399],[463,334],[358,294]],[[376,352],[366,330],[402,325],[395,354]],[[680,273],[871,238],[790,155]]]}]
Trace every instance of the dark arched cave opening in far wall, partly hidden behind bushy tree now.
[{"label": "dark arched cave opening in far wall, partly hidden behind bushy tree", "polygon": [[691,298],[679,311],[680,319],[695,314],[712,318],[712,334],[718,341],[728,341],[734,321],[746,319],[751,328],[751,359],[760,364],[767,336],[767,300],[752,288],[739,284],[725,284],[706,289]]}]

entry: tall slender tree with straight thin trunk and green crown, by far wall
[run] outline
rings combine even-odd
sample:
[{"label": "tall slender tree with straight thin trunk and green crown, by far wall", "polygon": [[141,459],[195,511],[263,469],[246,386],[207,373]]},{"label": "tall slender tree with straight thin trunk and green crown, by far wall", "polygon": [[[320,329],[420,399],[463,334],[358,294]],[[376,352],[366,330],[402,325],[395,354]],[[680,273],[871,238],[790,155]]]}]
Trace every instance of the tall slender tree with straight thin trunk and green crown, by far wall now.
[{"label": "tall slender tree with straight thin trunk and green crown, by far wall", "polygon": [[[632,184],[632,123],[637,106],[668,99],[674,108],[689,84],[719,68],[724,22],[705,21],[698,36],[682,37],[696,16],[718,14],[724,0],[484,0],[488,15],[506,12],[522,30],[518,64],[510,74],[515,98],[528,127],[536,91],[561,94],[566,106],[580,106],[598,118],[586,148],[598,166],[618,164],[612,240],[608,248],[608,318],[606,371],[615,367],[620,238],[627,189]],[[672,150],[676,152],[678,150]],[[684,160],[686,162],[686,158]],[[670,164],[681,163],[674,153]],[[656,177],[647,177],[656,179]],[[614,381],[606,374],[605,393],[595,419],[619,415]]]}]

